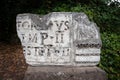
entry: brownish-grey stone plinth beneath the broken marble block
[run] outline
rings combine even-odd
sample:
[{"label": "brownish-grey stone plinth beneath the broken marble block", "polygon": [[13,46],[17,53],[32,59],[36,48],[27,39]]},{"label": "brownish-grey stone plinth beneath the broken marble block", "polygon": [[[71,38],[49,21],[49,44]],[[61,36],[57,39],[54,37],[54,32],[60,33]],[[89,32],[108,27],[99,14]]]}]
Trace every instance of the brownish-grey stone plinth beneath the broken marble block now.
[{"label": "brownish-grey stone plinth beneath the broken marble block", "polygon": [[28,67],[24,80],[107,80],[98,67]]}]

